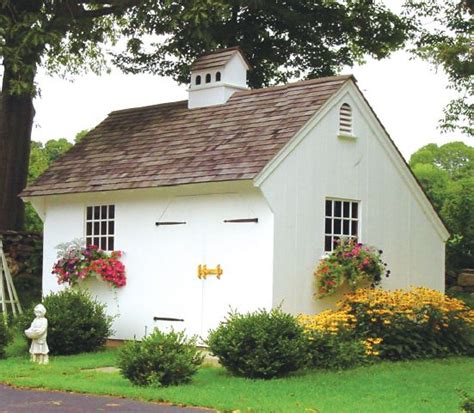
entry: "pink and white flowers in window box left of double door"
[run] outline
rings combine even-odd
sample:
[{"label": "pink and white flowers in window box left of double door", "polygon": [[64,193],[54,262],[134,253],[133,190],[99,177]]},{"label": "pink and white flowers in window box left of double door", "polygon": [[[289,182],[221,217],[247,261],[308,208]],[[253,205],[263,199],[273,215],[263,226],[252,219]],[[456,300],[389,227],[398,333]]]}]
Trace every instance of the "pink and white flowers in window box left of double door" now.
[{"label": "pink and white flowers in window box left of double door", "polygon": [[126,284],[125,266],[120,262],[121,251],[107,253],[95,245],[84,246],[80,240],[58,245],[58,261],[52,273],[58,284],[76,285],[79,280],[96,277],[113,287]]}]

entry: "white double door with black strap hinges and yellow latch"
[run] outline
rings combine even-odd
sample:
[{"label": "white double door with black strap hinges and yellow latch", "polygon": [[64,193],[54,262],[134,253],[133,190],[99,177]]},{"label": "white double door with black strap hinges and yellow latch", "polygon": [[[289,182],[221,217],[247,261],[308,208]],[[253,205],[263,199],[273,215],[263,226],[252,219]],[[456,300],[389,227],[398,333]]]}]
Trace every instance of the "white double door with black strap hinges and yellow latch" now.
[{"label": "white double door with black strap hinges and yellow latch", "polygon": [[[169,203],[156,228],[155,316],[182,319],[173,325],[205,339],[231,309],[263,306],[249,290],[259,276],[259,224],[225,222],[249,218],[258,218],[256,211],[234,194],[183,196]],[[219,265],[220,279],[198,278],[199,265]]]}]

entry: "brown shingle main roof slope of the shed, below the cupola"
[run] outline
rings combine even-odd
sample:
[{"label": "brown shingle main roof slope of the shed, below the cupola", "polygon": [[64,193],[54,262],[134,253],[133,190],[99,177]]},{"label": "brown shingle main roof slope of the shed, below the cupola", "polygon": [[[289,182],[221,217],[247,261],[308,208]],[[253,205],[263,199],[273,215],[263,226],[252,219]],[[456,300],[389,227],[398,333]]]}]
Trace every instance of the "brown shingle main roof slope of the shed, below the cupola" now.
[{"label": "brown shingle main roof slope of the shed, below the cupola", "polygon": [[236,92],[196,109],[181,101],[112,112],[21,196],[253,179],[351,78]]}]

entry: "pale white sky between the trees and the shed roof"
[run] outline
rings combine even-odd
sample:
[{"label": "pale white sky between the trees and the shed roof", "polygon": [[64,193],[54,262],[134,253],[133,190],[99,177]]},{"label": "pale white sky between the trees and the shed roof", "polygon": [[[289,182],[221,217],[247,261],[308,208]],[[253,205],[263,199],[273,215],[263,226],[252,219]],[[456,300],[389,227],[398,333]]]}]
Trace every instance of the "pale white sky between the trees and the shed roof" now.
[{"label": "pale white sky between the trees and the shed roof", "polygon": [[[397,5],[398,0],[390,3]],[[394,6],[394,7],[395,7]],[[395,7],[396,8],[396,7]],[[428,143],[472,139],[460,132],[441,133],[438,121],[454,96],[446,75],[419,59],[399,51],[389,58],[368,59],[362,66],[345,68],[358,85],[406,159]],[[91,129],[113,110],[187,99],[187,85],[157,75],[125,75],[118,70],[102,76],[73,77],[72,81],[37,77],[41,95],[35,99],[33,140],[73,140],[77,132]]]}]

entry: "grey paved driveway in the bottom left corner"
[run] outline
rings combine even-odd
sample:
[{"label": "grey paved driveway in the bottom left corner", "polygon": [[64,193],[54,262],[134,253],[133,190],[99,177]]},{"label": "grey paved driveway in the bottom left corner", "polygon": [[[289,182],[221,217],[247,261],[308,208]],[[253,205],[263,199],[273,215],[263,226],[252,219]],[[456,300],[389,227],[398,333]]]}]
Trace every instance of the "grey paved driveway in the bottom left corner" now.
[{"label": "grey paved driveway in the bottom left corner", "polygon": [[116,397],[20,390],[0,384],[0,413],[210,413],[211,410],[142,403]]}]

